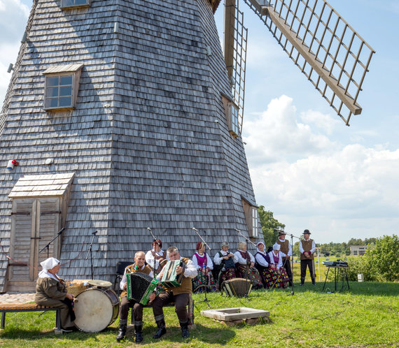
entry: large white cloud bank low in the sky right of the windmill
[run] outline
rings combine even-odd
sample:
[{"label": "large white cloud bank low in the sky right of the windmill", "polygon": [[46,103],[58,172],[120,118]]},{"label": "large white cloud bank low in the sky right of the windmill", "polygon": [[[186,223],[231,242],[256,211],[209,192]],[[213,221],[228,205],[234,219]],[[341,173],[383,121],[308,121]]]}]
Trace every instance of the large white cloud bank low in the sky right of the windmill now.
[{"label": "large white cloud bank low in the sky right of the windmill", "polygon": [[325,241],[375,236],[376,222],[383,234],[397,233],[399,150],[332,142],[322,132],[332,133],[335,120],[308,111],[302,124],[295,113],[292,99],[281,96],[245,124],[258,204],[287,231],[311,228]]}]

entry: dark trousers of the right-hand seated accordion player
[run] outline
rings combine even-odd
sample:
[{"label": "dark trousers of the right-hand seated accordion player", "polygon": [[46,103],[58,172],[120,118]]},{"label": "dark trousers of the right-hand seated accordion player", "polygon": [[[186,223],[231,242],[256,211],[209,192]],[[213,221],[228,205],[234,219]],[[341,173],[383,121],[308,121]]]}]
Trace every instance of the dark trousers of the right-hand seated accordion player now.
[{"label": "dark trousers of the right-hand seated accordion player", "polygon": [[164,319],[163,307],[168,303],[174,302],[174,311],[179,318],[181,324],[186,324],[188,322],[187,305],[190,300],[188,293],[179,293],[179,295],[174,295],[171,292],[162,291],[153,300],[153,313],[155,321],[160,321]]}]

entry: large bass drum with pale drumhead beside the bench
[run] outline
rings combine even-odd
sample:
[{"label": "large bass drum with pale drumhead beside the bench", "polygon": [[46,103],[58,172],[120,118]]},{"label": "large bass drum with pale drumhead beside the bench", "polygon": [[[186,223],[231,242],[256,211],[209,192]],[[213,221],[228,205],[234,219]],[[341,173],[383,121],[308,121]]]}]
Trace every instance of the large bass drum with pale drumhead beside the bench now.
[{"label": "large bass drum with pale drumhead beside the bench", "polygon": [[112,289],[90,288],[76,296],[75,326],[85,333],[98,333],[118,317],[119,298]]}]

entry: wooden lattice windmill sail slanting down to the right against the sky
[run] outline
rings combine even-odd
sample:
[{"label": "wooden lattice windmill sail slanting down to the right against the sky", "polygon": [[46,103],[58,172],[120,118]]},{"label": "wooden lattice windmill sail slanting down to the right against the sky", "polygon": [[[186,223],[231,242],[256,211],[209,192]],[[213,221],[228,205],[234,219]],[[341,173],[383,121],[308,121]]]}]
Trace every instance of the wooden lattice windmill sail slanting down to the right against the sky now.
[{"label": "wooden lattice windmill sail slanting down to the right against the sky", "polygon": [[324,0],[244,0],[349,126],[374,50]]}]

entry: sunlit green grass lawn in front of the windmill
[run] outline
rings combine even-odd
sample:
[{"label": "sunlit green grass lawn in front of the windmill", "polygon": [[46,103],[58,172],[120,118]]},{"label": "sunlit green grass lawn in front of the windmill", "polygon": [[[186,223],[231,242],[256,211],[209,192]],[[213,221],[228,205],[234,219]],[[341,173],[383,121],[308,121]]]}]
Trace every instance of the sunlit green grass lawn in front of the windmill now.
[{"label": "sunlit green grass lawn in front of the windmill", "polygon": [[[297,283],[295,283],[297,284]],[[167,334],[153,340],[156,331],[151,309],[144,310],[145,347],[388,347],[399,345],[399,283],[350,282],[351,291],[322,292],[323,283],[290,289],[253,291],[250,300],[209,293],[212,308],[253,307],[269,310],[271,322],[255,326],[225,326],[202,317],[207,310],[194,295],[195,322],[190,338],[183,340],[174,309],[165,308]],[[326,286],[334,287],[332,282]],[[0,333],[1,347],[125,347],[135,345],[133,330],[117,343],[118,320],[102,333],[55,335],[55,313],[7,313],[6,329]]]}]

